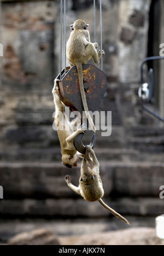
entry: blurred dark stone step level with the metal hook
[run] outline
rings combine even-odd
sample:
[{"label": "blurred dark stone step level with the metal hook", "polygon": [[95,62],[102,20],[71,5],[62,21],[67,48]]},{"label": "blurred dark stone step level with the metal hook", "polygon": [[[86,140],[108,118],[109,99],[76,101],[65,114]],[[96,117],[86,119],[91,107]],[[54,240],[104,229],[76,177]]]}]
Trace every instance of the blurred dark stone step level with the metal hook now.
[{"label": "blurred dark stone step level with the metal hook", "polygon": [[[24,125],[9,126],[2,129],[0,139],[3,148],[10,150],[11,147],[17,148],[49,148],[59,146],[57,132],[51,125]],[[164,151],[164,131],[157,132],[155,129],[124,129],[120,126],[112,126],[112,134],[103,136],[102,131],[96,132],[96,147],[109,149],[137,149],[142,152],[163,153]],[[84,143],[89,144],[92,132],[89,131],[84,136]],[[2,143],[1,142],[1,143]],[[0,144],[1,146],[1,144]]]}]

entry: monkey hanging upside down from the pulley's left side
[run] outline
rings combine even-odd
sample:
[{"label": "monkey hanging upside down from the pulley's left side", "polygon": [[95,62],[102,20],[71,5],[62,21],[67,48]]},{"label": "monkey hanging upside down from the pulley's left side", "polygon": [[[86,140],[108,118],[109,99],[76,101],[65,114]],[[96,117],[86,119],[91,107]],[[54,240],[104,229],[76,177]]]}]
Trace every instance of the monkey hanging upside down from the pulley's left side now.
[{"label": "monkey hanging upside down from the pulley's left side", "polygon": [[[77,150],[74,147],[74,139],[77,137],[80,133],[85,133],[87,131],[86,126],[80,126],[77,125],[77,130],[73,130],[75,127],[75,123],[78,122],[78,120],[74,120],[72,122],[69,122],[68,118],[66,117],[66,114],[64,112],[64,105],[60,100],[60,97],[58,96],[58,80],[55,79],[54,82],[54,88],[52,90],[52,94],[54,95],[54,103],[55,103],[55,119],[54,123],[57,129],[57,135],[60,141],[61,145],[61,154],[62,154],[62,163],[68,168],[76,167],[77,163],[79,161],[79,157],[82,155],[77,152]],[[78,119],[78,117],[77,117]],[[62,130],[59,129],[59,127],[62,126]]]}]

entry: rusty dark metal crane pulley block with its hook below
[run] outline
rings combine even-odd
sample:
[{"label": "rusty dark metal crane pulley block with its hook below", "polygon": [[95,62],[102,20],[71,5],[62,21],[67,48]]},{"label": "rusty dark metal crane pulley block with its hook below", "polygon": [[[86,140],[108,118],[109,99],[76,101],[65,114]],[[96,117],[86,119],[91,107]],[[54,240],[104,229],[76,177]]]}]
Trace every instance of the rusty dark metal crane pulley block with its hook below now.
[{"label": "rusty dark metal crane pulley block with its hook below", "polygon": [[[68,106],[71,111],[78,111],[83,114],[84,107],[83,102],[81,100],[80,88],[79,88],[79,78],[78,71],[75,66],[72,68],[66,68],[61,72],[61,80],[60,74],[57,79],[59,90],[58,95],[60,96],[61,101]],[[89,111],[95,112],[100,106],[104,94],[107,91],[107,78],[106,74],[92,64],[84,64],[83,65],[83,80],[84,80],[84,89],[86,95],[86,102],[89,108]],[[84,134],[80,134],[74,141],[75,148],[82,154],[85,154],[85,146],[83,145],[83,136]],[[95,136],[91,139],[91,144],[95,144]]]}]

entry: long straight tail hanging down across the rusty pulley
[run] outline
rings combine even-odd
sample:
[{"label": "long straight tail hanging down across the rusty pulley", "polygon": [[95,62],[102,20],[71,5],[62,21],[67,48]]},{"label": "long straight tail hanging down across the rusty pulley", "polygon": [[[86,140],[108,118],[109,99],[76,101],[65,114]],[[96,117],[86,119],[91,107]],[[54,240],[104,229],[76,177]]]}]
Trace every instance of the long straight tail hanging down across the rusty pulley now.
[{"label": "long straight tail hanging down across the rusty pulley", "polygon": [[89,109],[87,107],[87,102],[86,102],[86,96],[85,96],[84,85],[83,85],[83,67],[82,67],[81,63],[77,63],[76,66],[77,66],[77,70],[78,70],[80,94],[81,94],[81,99],[82,99],[82,102],[83,102],[83,107],[84,107],[84,110],[85,110],[85,114],[86,114],[87,120],[89,121],[89,124],[92,127],[92,130],[96,133],[96,127],[93,124],[93,120],[92,120],[91,115],[89,113]]}]

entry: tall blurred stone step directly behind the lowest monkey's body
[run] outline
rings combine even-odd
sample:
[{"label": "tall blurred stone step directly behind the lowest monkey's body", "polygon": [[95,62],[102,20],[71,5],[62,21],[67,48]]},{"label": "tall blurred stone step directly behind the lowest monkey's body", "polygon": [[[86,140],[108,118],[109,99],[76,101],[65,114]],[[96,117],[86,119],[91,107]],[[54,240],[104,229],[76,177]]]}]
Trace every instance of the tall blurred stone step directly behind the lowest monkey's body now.
[{"label": "tall blurred stone step directly behind the lowest monkey's body", "polygon": [[[99,161],[105,197],[159,197],[164,185],[163,162]],[[79,184],[80,162],[68,169],[61,162],[0,162],[4,199],[79,198],[65,182]]]}]

